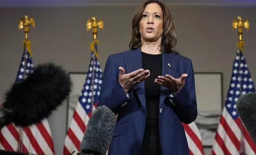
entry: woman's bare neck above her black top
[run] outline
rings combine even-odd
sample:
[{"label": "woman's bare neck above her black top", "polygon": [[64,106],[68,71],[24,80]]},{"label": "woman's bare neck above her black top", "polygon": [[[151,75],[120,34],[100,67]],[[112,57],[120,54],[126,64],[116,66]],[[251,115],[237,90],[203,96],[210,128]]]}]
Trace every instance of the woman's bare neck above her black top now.
[{"label": "woman's bare neck above her black top", "polygon": [[142,42],[141,51],[148,54],[160,54],[161,39],[156,42]]}]

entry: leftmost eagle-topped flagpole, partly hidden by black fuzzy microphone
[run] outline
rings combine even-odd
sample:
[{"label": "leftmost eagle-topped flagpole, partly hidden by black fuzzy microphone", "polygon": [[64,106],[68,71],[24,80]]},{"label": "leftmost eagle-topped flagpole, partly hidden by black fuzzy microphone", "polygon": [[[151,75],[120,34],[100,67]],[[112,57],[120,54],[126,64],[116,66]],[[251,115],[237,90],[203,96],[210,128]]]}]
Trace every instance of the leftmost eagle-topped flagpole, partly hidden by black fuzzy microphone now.
[{"label": "leftmost eagle-topped flagpole, partly hidden by black fuzzy microphone", "polygon": [[[29,52],[29,54],[31,55],[31,51],[30,51],[30,44],[31,42],[28,40],[29,38],[29,26],[32,25],[33,28],[35,28],[35,21],[34,19],[31,17],[30,19],[27,17],[27,15],[25,15],[25,17],[22,17],[20,20],[19,20],[19,30],[23,29],[24,28],[24,32],[25,32],[25,39],[23,40],[23,44],[24,44],[24,51],[27,51],[25,52],[25,58],[24,58],[24,61],[25,63],[24,64],[27,64],[27,52]],[[26,67],[27,65],[24,65],[24,79],[26,78]],[[18,142],[18,147],[17,147],[17,152],[22,152],[23,151],[23,148],[22,148],[22,137],[23,136],[23,132],[22,132],[22,128],[19,128],[19,142]]]}]

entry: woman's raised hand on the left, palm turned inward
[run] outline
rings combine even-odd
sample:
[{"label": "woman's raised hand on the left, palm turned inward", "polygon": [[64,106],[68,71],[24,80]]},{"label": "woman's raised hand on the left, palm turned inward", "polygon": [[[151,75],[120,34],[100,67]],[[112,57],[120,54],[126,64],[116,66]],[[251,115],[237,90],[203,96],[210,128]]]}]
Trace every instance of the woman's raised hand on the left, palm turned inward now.
[{"label": "woman's raised hand on the left, palm turned inward", "polygon": [[124,74],[124,68],[122,67],[119,67],[119,70],[118,82],[123,87],[126,94],[130,89],[138,85],[141,81],[144,81],[150,75],[149,70],[144,69],[138,69],[128,74]]}]

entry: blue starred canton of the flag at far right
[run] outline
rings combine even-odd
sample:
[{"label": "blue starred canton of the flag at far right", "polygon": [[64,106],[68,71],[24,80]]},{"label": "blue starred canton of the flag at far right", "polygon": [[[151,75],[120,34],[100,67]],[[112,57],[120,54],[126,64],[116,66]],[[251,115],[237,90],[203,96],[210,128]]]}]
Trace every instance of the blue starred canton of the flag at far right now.
[{"label": "blue starred canton of the flag at far right", "polygon": [[229,92],[225,101],[225,107],[233,119],[237,119],[237,100],[241,94],[254,92],[254,83],[250,76],[249,68],[243,53],[238,50],[233,64],[232,79],[229,86]]}]

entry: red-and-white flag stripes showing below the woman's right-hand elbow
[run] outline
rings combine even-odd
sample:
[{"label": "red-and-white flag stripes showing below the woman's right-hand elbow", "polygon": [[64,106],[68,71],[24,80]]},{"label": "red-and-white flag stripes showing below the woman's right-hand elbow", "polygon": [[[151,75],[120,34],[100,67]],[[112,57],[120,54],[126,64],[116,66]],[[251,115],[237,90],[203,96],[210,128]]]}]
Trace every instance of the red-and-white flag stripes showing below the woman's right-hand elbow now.
[{"label": "red-and-white flag stripes showing below the woman's right-hand elbow", "polygon": [[182,123],[188,141],[190,155],[204,155],[201,134],[195,122],[190,124]]}]

